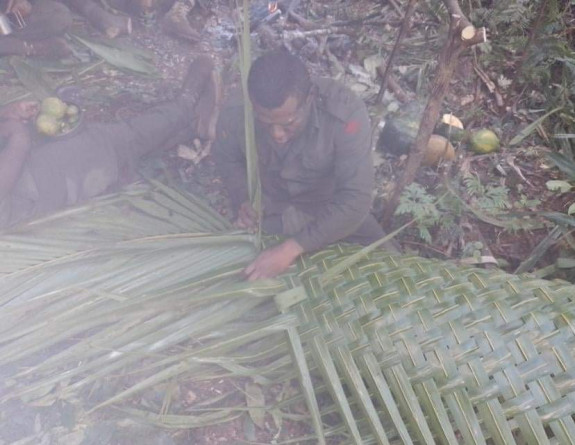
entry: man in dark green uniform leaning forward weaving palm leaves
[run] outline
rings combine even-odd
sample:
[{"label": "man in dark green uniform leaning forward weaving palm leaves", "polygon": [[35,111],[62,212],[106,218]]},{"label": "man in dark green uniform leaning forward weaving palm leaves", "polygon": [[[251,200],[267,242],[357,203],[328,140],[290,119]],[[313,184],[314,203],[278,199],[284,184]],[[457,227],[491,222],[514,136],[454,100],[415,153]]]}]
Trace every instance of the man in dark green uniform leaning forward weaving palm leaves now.
[{"label": "man in dark green uniform leaning forward weaving palm leaves", "polygon": [[[311,79],[287,51],[257,59],[248,76],[263,195],[262,228],[287,240],[262,252],[247,279],[285,271],[303,252],[345,240],[369,244],[384,236],[370,214],[374,171],[364,103],[331,79]],[[236,225],[251,229],[243,105],[230,99],[214,153],[229,190]]]}]

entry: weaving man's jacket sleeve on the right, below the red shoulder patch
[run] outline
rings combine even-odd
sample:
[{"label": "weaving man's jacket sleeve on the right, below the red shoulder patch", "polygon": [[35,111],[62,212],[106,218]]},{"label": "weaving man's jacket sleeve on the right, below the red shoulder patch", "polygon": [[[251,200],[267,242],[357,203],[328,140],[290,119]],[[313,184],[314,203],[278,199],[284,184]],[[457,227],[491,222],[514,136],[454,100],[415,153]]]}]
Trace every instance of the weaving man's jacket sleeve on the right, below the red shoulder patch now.
[{"label": "weaving man's jacket sleeve on the right, below the red shoulder patch", "polygon": [[369,214],[374,183],[371,128],[367,109],[358,102],[348,119],[335,125],[333,199],[294,236],[305,251],[320,249],[353,234]]}]

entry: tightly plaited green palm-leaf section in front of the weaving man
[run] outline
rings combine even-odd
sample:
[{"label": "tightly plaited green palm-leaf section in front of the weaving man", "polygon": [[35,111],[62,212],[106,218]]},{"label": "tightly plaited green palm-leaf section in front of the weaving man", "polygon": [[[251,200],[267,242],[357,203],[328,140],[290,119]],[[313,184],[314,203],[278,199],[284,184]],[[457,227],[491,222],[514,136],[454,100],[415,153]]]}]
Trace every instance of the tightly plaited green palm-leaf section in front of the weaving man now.
[{"label": "tightly plaited green palm-leaf section in front of the weaving man", "polygon": [[352,443],[575,443],[572,285],[383,251],[322,283],[349,253],[289,310]]}]

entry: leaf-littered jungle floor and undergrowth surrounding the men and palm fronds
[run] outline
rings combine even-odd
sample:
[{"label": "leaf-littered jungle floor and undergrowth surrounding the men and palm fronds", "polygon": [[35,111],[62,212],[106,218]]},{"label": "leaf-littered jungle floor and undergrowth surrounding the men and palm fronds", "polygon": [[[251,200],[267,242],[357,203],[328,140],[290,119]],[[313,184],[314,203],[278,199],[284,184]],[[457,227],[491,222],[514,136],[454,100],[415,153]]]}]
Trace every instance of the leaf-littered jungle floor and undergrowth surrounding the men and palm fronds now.
[{"label": "leaf-littered jungle floor and undergrowth surrounding the men and palm fronds", "polygon": [[[421,114],[409,111],[413,109],[409,104],[425,104],[441,69],[438,55],[449,32],[443,2],[416,2],[393,59],[393,86],[378,100],[382,67],[396,45],[407,3],[293,0],[280,2],[281,14],[270,20],[268,2],[252,2],[254,56],[286,46],[304,58],[314,74],[340,79],[366,101],[374,125],[374,211],[381,219],[407,154],[382,147],[379,132],[398,115],[420,119]],[[215,57],[229,87],[239,82],[238,6],[223,0],[190,2],[185,15],[201,34],[196,44],[139,21],[131,36],[108,40],[78,17],[69,37],[73,57],[0,60],[0,101],[58,90],[79,101],[84,119],[114,120],[174,97],[189,62],[200,53]],[[471,23],[486,28],[487,42],[458,57],[442,114],[457,116],[471,131],[492,130],[500,149],[478,154],[465,138],[454,141],[453,162],[420,168],[386,228],[415,218],[416,223],[397,237],[407,252],[573,282],[575,2],[463,0],[460,7]],[[148,159],[142,172],[203,196],[229,216],[209,147],[200,142]],[[277,389],[282,394],[290,390]],[[183,388],[180,403],[192,404],[205,393],[214,396],[214,391],[222,391],[222,386],[207,382]],[[251,397],[261,394],[254,389]],[[11,425],[0,433],[5,443],[136,443],[135,435],[142,437],[137,443],[279,443],[280,436],[289,440],[307,431],[297,416],[284,421],[281,435],[269,419],[256,428],[253,419],[258,414],[252,411],[251,421],[194,433],[166,432],[105,417],[106,422],[94,429],[50,435],[46,431],[51,427],[74,423],[66,405],[56,416],[12,408],[19,414],[15,419],[3,412],[3,420]]]}]

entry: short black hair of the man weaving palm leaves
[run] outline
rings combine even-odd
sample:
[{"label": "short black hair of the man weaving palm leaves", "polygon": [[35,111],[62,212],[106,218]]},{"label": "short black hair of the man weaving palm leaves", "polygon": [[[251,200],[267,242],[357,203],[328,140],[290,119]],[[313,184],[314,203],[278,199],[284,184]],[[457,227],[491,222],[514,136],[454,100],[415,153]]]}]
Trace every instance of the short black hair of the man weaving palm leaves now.
[{"label": "short black hair of the man weaving palm leaves", "polygon": [[299,103],[311,89],[309,72],[298,57],[287,50],[276,50],[257,58],[248,75],[248,92],[261,107],[281,107],[289,96]]}]

